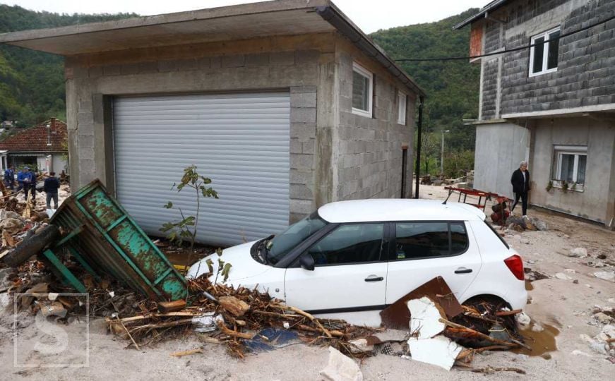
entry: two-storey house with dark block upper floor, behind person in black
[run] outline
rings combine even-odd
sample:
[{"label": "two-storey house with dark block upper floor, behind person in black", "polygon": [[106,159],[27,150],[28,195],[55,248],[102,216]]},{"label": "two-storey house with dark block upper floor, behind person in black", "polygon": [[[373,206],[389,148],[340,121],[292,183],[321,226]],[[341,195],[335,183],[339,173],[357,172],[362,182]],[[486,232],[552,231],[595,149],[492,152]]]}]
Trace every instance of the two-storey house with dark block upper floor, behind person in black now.
[{"label": "two-storey house with dark block upper floor, behind person in black", "polygon": [[492,54],[473,60],[475,188],[512,195],[526,160],[530,204],[615,226],[614,14],[615,1],[497,0],[455,25],[471,25],[471,56]]}]

